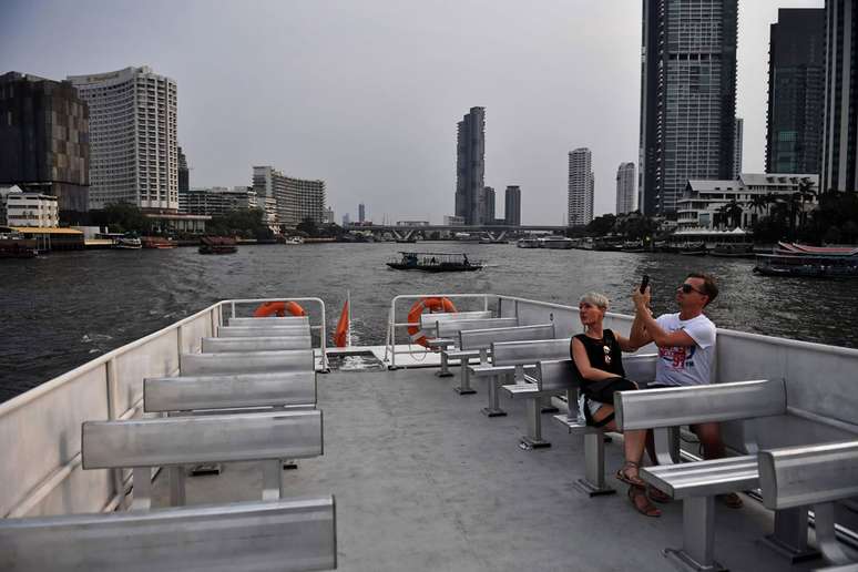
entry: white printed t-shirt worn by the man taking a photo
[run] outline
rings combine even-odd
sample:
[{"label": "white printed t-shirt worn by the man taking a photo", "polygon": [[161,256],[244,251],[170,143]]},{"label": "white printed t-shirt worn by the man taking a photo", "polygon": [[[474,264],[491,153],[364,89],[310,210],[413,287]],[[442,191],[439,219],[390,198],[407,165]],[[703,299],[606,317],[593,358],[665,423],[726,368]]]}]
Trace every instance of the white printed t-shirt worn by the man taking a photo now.
[{"label": "white printed t-shirt worn by the man taking a photo", "polygon": [[685,330],[694,346],[658,348],[655,382],[666,386],[699,386],[709,384],[712,362],[715,358],[715,324],[701,314],[681,320],[680,314],[663,314],[655,320],[665,331]]}]

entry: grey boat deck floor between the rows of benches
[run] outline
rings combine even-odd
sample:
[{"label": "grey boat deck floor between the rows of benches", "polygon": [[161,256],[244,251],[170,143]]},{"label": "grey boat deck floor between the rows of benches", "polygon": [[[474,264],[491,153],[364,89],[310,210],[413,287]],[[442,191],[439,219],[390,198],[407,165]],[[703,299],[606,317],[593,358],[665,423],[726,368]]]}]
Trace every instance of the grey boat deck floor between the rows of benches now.
[{"label": "grey boat deck floor between the rows of benches", "polygon": [[[681,545],[681,502],[663,505],[661,519],[643,517],[613,478],[617,494],[586,497],[573,486],[584,472],[580,436],[544,416],[553,447],[521,450],[523,402],[503,400],[510,415],[488,419],[481,384],[468,397],[454,384],[425,368],[318,376],[325,454],[287,471],[287,494],[335,494],[338,570],[672,569],[661,551]],[[621,456],[615,438],[609,474]],[[163,474],[156,505],[166,504]],[[261,490],[259,467],[228,464],[188,478],[187,502],[254,500]],[[716,558],[734,571],[823,565],[790,566],[760,545],[773,518],[753,500],[740,510],[718,505],[716,522]]]}]

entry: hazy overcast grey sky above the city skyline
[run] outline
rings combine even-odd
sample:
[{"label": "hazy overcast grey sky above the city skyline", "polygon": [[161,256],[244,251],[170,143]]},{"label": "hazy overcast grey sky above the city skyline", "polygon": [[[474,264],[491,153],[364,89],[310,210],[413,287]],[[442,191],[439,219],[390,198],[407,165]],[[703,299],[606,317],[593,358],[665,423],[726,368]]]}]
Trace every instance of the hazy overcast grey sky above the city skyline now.
[{"label": "hazy overcast grey sky above the city skyline", "polygon": [[[768,25],[739,0],[744,171],[765,155]],[[569,151],[593,151],[595,213],[637,162],[641,0],[0,0],[0,73],[51,79],[151,65],[178,85],[192,186],[252,165],[327,182],[339,221],[452,214],[456,124],[486,108],[486,184],[520,185],[522,222],[561,224]]]}]

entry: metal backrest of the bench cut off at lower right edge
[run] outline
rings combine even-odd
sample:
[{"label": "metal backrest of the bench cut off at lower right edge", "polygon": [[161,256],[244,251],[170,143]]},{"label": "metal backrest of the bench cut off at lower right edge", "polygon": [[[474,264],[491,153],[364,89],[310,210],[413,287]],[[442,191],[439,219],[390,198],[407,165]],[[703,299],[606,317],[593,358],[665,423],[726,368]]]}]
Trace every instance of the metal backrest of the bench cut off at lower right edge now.
[{"label": "metal backrest of the bench cut off at lower right edge", "polygon": [[858,496],[858,441],[760,451],[759,487],[769,509]]}]

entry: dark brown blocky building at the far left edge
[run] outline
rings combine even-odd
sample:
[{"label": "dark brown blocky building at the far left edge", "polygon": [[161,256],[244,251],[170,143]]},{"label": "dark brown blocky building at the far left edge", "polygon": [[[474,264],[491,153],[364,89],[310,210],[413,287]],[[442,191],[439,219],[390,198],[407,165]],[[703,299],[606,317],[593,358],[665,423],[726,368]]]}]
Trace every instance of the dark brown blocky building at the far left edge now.
[{"label": "dark brown blocky building at the far left edge", "polygon": [[63,212],[86,212],[89,139],[89,106],[70,82],[0,75],[0,184],[55,196]]}]

